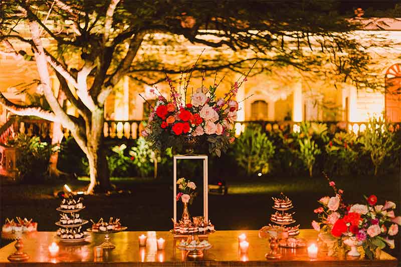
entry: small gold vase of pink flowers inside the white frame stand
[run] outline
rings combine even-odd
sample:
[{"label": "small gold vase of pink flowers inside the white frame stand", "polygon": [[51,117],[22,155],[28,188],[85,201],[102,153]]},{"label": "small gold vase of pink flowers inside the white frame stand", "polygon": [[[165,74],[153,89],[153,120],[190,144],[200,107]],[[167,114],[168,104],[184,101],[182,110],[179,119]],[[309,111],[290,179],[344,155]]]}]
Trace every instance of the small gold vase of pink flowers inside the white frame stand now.
[{"label": "small gold vase of pink flowers inside the white frame stand", "polygon": [[181,220],[187,222],[190,221],[188,204],[192,204],[193,199],[196,197],[196,184],[182,177],[177,180],[177,186],[178,193],[176,195],[176,201],[181,200],[184,206]]}]

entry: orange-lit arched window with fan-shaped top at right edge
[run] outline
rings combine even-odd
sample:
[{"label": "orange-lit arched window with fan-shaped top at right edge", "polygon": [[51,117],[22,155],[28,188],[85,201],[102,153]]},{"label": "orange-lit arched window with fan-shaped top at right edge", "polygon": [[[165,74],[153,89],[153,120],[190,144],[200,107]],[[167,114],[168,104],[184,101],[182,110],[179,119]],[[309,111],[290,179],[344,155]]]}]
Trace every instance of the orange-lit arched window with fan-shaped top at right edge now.
[{"label": "orange-lit arched window with fan-shaped top at right edge", "polygon": [[385,98],[384,108],[388,120],[401,121],[401,64],[388,68],[384,77]]}]

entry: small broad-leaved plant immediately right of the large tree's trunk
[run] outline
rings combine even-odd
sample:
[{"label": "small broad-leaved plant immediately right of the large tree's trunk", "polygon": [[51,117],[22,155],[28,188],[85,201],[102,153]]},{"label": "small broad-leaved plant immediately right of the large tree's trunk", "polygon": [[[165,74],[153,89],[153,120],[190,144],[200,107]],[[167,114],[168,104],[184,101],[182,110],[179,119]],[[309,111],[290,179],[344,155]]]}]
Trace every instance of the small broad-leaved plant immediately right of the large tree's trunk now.
[{"label": "small broad-leaved plant immediately right of the large tree's trunk", "polygon": [[127,145],[125,144],[113,146],[111,148],[113,153],[107,157],[110,175],[123,176],[128,174],[130,166],[132,166],[132,161],[129,157],[124,155],[124,150],[126,148]]}]

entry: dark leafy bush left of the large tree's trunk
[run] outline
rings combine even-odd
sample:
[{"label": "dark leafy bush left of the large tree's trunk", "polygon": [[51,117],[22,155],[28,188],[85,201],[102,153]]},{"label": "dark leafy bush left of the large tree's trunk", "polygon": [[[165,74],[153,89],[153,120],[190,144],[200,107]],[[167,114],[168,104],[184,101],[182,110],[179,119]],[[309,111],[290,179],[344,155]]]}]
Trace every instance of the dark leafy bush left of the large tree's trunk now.
[{"label": "dark leafy bush left of the large tree's trunk", "polygon": [[26,183],[43,183],[49,178],[49,160],[53,147],[39,137],[18,134],[9,144],[18,148],[16,166],[19,177]]}]

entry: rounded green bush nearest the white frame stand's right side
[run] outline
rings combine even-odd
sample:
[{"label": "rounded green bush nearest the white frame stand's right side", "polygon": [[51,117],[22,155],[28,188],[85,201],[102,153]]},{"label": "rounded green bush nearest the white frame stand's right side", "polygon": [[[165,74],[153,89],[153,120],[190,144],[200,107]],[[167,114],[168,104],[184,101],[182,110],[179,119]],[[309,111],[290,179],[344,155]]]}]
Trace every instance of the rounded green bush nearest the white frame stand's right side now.
[{"label": "rounded green bush nearest the white frame stand's right side", "polygon": [[248,126],[234,144],[234,156],[238,165],[250,176],[257,172],[266,174],[274,155],[272,142],[260,127]]}]

